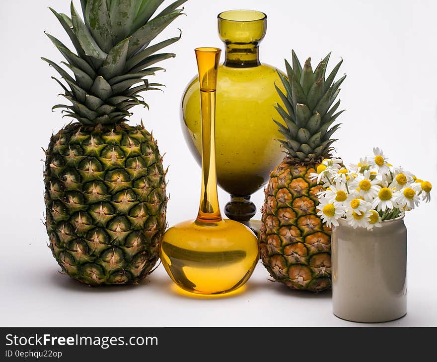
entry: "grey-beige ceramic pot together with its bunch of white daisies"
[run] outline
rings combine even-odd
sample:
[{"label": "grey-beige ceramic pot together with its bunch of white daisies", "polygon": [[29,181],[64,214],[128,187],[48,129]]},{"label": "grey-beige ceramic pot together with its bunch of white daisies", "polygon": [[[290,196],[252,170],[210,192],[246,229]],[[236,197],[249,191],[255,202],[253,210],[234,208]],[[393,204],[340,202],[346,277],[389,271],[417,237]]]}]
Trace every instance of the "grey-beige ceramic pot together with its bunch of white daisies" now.
[{"label": "grey-beige ceramic pot together with its bunch of white daisies", "polygon": [[324,184],[318,215],[332,232],[333,312],[383,322],[407,312],[405,212],[430,201],[432,185],[394,167],[379,148],[346,169],[324,160],[312,179]]}]

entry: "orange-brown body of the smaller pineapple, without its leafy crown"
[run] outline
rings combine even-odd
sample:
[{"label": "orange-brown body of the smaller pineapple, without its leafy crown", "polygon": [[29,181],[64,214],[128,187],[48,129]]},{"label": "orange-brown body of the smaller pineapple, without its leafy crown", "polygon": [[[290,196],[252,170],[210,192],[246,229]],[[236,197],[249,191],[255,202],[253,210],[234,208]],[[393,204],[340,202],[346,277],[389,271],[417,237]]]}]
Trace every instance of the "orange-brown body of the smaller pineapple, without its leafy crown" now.
[{"label": "orange-brown body of the smaller pineapple, without its leafy crown", "polygon": [[319,164],[301,165],[286,157],[270,175],[261,210],[261,258],[275,280],[292,289],[331,288],[331,228],[317,215],[317,193],[309,175]]}]

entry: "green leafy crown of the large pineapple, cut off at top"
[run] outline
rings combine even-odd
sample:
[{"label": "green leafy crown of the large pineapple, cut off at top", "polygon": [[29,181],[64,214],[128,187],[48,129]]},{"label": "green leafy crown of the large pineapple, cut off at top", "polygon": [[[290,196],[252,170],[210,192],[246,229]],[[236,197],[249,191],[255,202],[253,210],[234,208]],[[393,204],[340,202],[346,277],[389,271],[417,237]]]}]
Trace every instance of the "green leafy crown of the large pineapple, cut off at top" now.
[{"label": "green leafy crown of the large pineapple, cut off at top", "polygon": [[56,69],[70,88],[52,77],[64,89],[62,96],[72,103],[58,104],[52,111],[65,108],[64,117],[72,117],[85,125],[96,125],[125,121],[132,115],[129,110],[136,105],[148,108],[139,93],[159,89],[157,87],[162,84],[149,83],[146,77],[164,70],[151,65],[175,57],[172,53],[155,53],[178,41],[181,35],[149,45],[182,14],[183,9],[178,7],[187,0],[173,2],[152,18],[164,1],[80,0],[84,21],[73,1],[71,17],[50,8],[77,53],[46,33],[67,60],[62,63],[73,73],[72,76],[52,60],[42,58]]}]

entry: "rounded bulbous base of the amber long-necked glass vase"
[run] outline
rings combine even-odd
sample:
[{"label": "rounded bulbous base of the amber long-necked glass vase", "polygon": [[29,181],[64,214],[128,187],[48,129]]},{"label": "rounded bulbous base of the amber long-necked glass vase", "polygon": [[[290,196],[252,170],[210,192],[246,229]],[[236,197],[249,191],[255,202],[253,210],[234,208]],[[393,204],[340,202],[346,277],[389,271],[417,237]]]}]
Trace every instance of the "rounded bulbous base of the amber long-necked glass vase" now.
[{"label": "rounded bulbous base of the amber long-necked glass vase", "polygon": [[185,221],[164,234],[160,256],[171,279],[197,294],[223,294],[241,287],[259,259],[258,240],[243,224]]}]

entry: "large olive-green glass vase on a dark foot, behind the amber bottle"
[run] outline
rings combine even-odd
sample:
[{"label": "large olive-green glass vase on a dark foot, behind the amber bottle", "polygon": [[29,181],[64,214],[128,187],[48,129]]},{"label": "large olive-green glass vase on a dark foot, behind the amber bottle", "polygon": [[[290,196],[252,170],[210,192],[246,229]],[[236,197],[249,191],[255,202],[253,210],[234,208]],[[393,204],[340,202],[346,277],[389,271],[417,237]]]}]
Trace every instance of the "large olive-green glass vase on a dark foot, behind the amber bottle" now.
[{"label": "large olive-green glass vase on a dark foot, behind the amber bottle", "polygon": [[[225,214],[249,226],[256,207],[250,195],[269,179],[282,154],[283,138],[272,121],[273,107],[282,104],[277,69],[259,60],[259,44],[266,34],[267,16],[259,11],[231,10],[218,15],[218,32],[226,57],[219,66],[216,110],[218,184],[231,196]],[[182,99],[182,128],[196,160],[201,163],[199,79],[188,85]],[[256,224],[252,227],[256,229]]]}]

